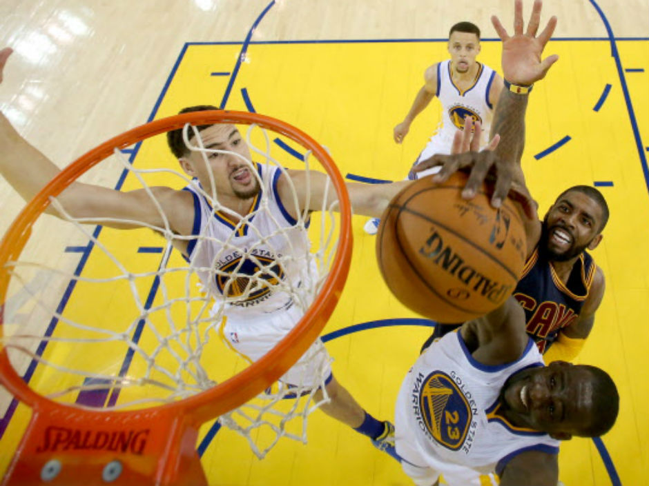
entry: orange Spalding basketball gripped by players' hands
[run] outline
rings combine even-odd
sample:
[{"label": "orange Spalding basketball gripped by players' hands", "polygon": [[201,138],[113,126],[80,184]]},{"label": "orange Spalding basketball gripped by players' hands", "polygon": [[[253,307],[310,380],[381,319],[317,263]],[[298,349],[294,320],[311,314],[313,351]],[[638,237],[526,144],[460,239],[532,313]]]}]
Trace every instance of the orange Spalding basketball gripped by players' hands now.
[{"label": "orange Spalding basketball gripped by players' hands", "polygon": [[462,199],[467,175],[414,181],[383,213],[376,256],[406,307],[440,323],[483,316],[512,294],[525,264],[525,230],[509,199],[496,209],[485,186]]}]

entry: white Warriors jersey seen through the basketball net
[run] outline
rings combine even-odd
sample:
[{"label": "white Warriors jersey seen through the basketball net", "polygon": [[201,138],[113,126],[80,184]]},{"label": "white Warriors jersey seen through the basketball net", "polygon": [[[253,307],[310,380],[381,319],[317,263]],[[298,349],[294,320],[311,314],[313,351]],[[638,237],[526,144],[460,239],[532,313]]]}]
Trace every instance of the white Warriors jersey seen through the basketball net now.
[{"label": "white Warriors jersey seen through the basketball net", "polygon": [[[293,305],[293,290],[303,288],[303,279],[313,270],[307,232],[296,226],[278,197],[280,169],[258,164],[257,170],[262,190],[239,224],[225,212],[212,209],[197,189],[198,181],[184,188],[194,199],[192,234],[202,236],[189,242],[188,260],[204,287],[209,287],[216,300],[221,297],[226,314],[235,318],[288,309]],[[231,279],[233,272],[238,274],[236,279]]]}]

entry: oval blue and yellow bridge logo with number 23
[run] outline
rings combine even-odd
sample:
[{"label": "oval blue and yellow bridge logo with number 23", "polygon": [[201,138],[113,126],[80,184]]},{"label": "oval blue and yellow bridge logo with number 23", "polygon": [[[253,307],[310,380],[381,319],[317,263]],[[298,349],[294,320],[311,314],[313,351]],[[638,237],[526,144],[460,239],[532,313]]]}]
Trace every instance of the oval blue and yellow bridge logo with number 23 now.
[{"label": "oval blue and yellow bridge logo with number 23", "polygon": [[429,374],[419,391],[421,418],[435,441],[451,450],[462,447],[472,412],[466,398],[444,372]]}]

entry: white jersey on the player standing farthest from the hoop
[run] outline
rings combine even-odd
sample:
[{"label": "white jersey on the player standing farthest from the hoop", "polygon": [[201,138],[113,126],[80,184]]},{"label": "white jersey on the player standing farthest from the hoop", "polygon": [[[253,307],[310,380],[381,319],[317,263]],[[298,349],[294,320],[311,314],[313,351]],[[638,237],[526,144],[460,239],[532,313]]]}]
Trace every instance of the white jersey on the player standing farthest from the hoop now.
[{"label": "white jersey on the player standing farthest from the hoop", "polygon": [[442,126],[436,136],[447,139],[450,143],[458,128],[464,128],[464,118],[468,115],[474,121],[480,121],[483,130],[481,146],[489,139],[494,107],[489,99],[496,72],[487,65],[478,63],[478,74],[473,85],[467,90],[460,90],[451,76],[451,61],[441,61],[437,65],[436,96],[443,106]]}]

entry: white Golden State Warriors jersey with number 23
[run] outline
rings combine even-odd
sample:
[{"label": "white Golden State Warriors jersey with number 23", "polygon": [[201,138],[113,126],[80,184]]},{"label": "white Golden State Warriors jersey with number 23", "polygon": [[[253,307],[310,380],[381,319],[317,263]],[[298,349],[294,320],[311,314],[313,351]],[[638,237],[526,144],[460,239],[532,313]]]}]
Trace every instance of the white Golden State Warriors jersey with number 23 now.
[{"label": "white Golden State Warriors jersey with number 23", "polygon": [[532,339],[518,361],[499,366],[478,363],[460,332],[433,343],[402,388],[408,395],[402,402],[408,404],[407,427],[427,465],[442,474],[447,463],[501,474],[507,461],[523,450],[557,454],[559,441],[548,434],[515,427],[496,416],[507,378],[530,366],[543,366]]}]

